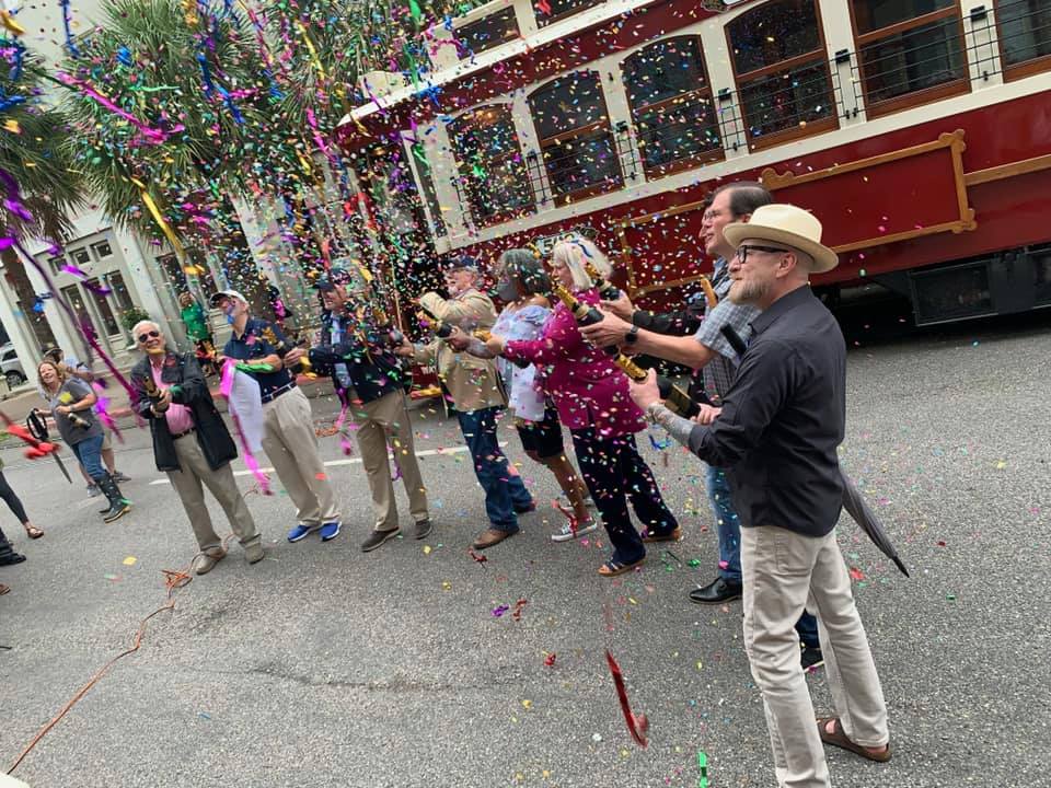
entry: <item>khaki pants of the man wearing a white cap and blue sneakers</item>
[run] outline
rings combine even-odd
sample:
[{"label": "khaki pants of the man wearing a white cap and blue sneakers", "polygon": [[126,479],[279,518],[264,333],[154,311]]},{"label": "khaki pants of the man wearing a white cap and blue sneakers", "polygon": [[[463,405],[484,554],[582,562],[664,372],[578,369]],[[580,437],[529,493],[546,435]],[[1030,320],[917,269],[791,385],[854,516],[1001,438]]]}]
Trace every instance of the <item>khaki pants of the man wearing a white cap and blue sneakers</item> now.
[{"label": "khaki pants of the man wearing a white cap and blue sneakers", "polygon": [[339,519],[328,474],[317,454],[310,402],[300,389],[263,405],[263,449],[296,505],[300,523],[313,528]]}]

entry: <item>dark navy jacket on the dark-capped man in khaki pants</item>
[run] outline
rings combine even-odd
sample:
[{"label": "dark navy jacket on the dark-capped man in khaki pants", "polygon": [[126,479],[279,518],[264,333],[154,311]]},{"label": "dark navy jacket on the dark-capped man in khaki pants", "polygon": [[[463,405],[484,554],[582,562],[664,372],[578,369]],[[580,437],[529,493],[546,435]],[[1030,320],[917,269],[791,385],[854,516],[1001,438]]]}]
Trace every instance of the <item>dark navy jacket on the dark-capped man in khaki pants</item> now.
[{"label": "dark navy jacket on the dark-capped man in khaki pants", "polygon": [[337,392],[344,389],[337,364],[346,366],[346,376],[354,386],[355,398],[372,402],[402,387],[407,375],[391,351],[389,329],[359,322],[353,314],[342,315],[345,328],[339,341],[332,341],[332,314],[321,318],[321,344],[311,348],[308,358],[317,374],[331,375]]}]

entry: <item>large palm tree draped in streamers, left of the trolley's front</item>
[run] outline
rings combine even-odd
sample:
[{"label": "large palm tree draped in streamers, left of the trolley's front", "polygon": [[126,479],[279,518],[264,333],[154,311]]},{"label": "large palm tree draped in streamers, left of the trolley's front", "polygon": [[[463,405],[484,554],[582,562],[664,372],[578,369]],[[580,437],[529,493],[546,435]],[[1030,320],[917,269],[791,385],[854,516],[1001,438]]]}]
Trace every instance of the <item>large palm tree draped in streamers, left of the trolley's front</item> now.
[{"label": "large palm tree draped in streamers, left of the trolley's front", "polygon": [[228,279],[266,311],[228,194],[276,100],[261,84],[246,21],[231,8],[105,0],[102,25],[78,42],[59,79],[69,88],[72,154],[106,213],[154,240],[166,224],[180,243],[219,251]]}]

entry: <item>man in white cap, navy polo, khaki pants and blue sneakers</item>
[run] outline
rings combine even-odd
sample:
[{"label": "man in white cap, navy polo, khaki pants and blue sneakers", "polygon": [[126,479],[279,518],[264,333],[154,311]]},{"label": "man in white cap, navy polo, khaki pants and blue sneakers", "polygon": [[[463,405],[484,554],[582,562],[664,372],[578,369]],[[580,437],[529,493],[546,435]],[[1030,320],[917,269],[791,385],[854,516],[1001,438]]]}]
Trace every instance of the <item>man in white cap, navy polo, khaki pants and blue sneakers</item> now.
[{"label": "man in white cap, navy polo, khaki pants and blue sneakers", "polygon": [[280,327],[249,314],[249,302],[236,290],[222,290],[211,298],[230,321],[233,333],[222,348],[236,359],[242,371],[259,384],[263,397],[263,449],[274,463],[277,477],[296,505],[299,523],[288,532],[299,542],[314,531],[327,542],[339,534],[339,509],[317,454],[317,434],[310,402],[285,368],[291,350]]}]

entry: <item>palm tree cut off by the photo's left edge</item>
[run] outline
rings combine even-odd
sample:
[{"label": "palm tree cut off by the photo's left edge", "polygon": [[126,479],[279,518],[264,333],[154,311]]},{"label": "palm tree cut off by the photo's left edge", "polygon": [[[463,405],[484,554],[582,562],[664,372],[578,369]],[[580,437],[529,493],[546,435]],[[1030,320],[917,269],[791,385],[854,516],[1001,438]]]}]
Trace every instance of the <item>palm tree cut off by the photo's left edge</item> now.
[{"label": "palm tree cut off by the photo's left edge", "polygon": [[[0,169],[19,184],[32,219],[9,205],[0,218],[20,237],[61,243],[72,229],[70,213],[84,202],[82,178],[68,153],[69,125],[63,115],[42,100],[39,61],[18,39],[0,38],[8,70],[0,71]],[[55,335],[42,313],[34,310],[36,294],[14,248],[0,253],[4,279],[22,305],[24,318],[43,345]]]}]

